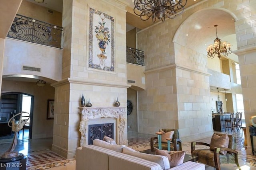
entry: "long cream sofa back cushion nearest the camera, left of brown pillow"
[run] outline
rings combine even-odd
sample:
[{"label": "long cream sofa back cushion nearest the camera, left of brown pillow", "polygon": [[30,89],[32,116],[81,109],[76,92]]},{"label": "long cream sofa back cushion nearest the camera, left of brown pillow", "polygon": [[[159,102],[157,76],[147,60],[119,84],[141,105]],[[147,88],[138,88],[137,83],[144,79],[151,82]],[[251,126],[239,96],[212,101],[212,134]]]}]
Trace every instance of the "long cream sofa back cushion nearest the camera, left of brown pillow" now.
[{"label": "long cream sofa back cushion nearest the camera, left of brown pillow", "polygon": [[170,168],[170,163],[169,163],[167,156],[141,153],[141,152],[133,150],[129,147],[123,148],[122,153],[136,156],[138,158],[146,159],[151,162],[158,163],[162,167],[163,170],[168,170]]}]

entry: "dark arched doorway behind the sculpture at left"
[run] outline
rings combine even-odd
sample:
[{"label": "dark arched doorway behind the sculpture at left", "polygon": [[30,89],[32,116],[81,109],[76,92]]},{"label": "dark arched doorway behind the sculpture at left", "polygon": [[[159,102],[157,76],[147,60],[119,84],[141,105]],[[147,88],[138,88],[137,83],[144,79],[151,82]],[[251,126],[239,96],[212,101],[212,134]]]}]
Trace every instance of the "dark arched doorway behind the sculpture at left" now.
[{"label": "dark arched doorway behind the sculpture at left", "polygon": [[[10,118],[25,111],[30,113],[30,119],[27,121],[24,129],[19,132],[18,140],[32,139],[32,120],[33,120],[33,105],[34,96],[30,94],[20,93],[20,92],[8,92],[1,94],[0,100],[0,139],[12,139],[13,132],[11,128],[8,127],[8,121]],[[28,115],[22,114],[22,119],[26,119]],[[23,132],[26,132],[24,134]],[[26,135],[26,136],[24,136]]]}]

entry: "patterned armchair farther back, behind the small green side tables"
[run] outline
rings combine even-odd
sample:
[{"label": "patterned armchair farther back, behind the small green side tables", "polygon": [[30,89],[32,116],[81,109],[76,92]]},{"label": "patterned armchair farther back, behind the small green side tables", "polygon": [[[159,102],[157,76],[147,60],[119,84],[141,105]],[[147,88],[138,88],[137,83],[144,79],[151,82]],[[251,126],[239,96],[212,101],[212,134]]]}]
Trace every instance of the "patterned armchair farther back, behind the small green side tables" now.
[{"label": "patterned armchair farther back, behind the small green side tables", "polygon": [[[178,129],[162,129],[162,131],[164,131],[165,133],[169,132],[169,131],[174,131],[172,141],[170,143],[170,150],[172,150],[172,151],[182,150],[181,140],[179,139],[180,135],[179,135]],[[154,152],[154,147],[158,148],[158,137],[152,137],[150,139],[150,149],[152,152]],[[168,144],[162,143],[162,149],[167,150],[167,148],[168,148]]]}]

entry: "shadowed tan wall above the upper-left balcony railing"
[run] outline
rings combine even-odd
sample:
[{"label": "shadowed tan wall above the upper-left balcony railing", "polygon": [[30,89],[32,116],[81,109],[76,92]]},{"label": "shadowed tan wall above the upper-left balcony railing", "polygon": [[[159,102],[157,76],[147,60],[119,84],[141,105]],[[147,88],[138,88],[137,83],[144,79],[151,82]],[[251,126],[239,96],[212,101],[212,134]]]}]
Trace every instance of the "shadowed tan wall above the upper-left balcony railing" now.
[{"label": "shadowed tan wall above the upper-left balcony railing", "polygon": [[23,0],[17,14],[61,27],[62,13],[52,11],[53,14],[48,12],[48,8]]}]

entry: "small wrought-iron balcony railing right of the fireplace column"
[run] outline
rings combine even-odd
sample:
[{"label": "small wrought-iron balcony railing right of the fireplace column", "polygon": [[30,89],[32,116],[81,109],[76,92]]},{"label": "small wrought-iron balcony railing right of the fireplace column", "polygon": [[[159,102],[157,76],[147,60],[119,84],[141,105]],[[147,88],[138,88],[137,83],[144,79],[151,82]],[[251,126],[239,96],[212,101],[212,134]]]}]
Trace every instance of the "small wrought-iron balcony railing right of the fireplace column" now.
[{"label": "small wrought-iron balcony railing right of the fireplace column", "polygon": [[126,47],[126,62],[144,66],[144,51]]}]

